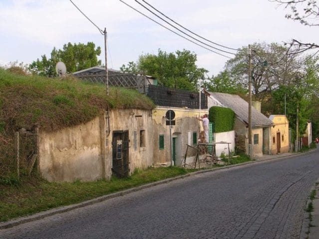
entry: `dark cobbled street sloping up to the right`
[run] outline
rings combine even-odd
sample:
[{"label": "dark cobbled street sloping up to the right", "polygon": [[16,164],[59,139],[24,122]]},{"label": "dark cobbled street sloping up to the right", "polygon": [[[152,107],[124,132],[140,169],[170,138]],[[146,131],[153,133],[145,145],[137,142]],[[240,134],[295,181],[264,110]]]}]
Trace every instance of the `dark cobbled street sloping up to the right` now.
[{"label": "dark cobbled street sloping up to the right", "polygon": [[319,149],[198,174],[43,220],[0,239],[299,239]]}]

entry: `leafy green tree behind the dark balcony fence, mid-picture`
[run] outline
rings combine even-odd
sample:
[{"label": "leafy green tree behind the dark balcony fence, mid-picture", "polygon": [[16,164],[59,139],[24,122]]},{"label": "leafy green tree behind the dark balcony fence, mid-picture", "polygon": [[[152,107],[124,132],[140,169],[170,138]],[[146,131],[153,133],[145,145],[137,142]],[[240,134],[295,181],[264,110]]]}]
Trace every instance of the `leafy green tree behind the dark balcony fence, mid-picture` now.
[{"label": "leafy green tree behind the dark balcony fence, mid-picture", "polygon": [[199,79],[205,78],[208,71],[196,66],[197,56],[188,50],[167,53],[158,50],[158,54],[141,55],[137,63],[129,62],[128,66],[121,67],[122,72],[141,72],[154,76],[158,79],[159,85],[195,90]]}]

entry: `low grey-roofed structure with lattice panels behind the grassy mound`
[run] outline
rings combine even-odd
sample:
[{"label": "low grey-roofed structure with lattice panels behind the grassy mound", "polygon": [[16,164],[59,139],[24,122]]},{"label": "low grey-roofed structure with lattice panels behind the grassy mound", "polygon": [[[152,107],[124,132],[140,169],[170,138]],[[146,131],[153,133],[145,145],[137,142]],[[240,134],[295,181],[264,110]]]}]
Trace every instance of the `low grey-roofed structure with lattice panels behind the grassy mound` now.
[{"label": "low grey-roofed structure with lattice panels behind the grassy mound", "polygon": [[[105,68],[103,67],[90,67],[74,72],[73,75],[83,81],[106,84]],[[157,85],[157,79],[143,74],[121,73],[114,69],[108,69],[108,85],[133,88],[140,93],[146,93],[148,85]]]}]

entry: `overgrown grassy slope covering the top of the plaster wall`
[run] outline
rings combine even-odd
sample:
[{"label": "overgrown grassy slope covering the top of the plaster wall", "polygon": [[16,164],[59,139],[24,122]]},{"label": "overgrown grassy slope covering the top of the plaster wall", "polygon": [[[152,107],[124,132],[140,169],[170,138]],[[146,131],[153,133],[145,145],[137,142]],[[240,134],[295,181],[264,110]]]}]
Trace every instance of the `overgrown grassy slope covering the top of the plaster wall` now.
[{"label": "overgrown grassy slope covering the top of the plaster wall", "polygon": [[[84,83],[73,78],[18,76],[0,69],[0,133],[15,127],[51,131],[94,119],[107,108],[150,110],[154,104],[137,91]],[[2,111],[1,111],[2,109]]]}]

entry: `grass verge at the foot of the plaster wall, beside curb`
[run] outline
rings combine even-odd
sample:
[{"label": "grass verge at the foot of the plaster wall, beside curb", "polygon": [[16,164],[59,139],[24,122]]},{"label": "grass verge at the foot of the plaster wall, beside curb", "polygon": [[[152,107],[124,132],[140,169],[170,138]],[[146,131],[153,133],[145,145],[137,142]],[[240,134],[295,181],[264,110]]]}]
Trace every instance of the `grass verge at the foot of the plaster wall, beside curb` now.
[{"label": "grass verge at the foot of the plaster wall, beside curb", "polygon": [[129,178],[110,181],[54,183],[39,177],[21,179],[15,186],[0,185],[0,221],[80,203],[106,194],[193,172],[179,167],[136,170]]}]

